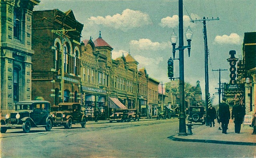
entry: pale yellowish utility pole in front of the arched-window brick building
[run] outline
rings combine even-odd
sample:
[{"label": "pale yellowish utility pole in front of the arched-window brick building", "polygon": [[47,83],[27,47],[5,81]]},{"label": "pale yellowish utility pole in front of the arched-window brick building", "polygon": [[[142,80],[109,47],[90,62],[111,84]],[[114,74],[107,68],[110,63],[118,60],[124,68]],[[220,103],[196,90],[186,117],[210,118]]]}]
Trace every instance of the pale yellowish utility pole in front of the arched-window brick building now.
[{"label": "pale yellowish utility pole in front of the arched-window brick building", "polygon": [[61,81],[60,81],[60,88],[61,88],[61,99],[62,102],[64,102],[64,51],[66,51],[64,49],[64,36],[66,38],[70,38],[67,33],[68,31],[76,31],[76,29],[70,29],[70,30],[65,30],[64,28],[62,28],[62,30],[52,30],[53,33],[58,34],[60,36],[62,36],[62,46],[60,48],[61,51]]}]

